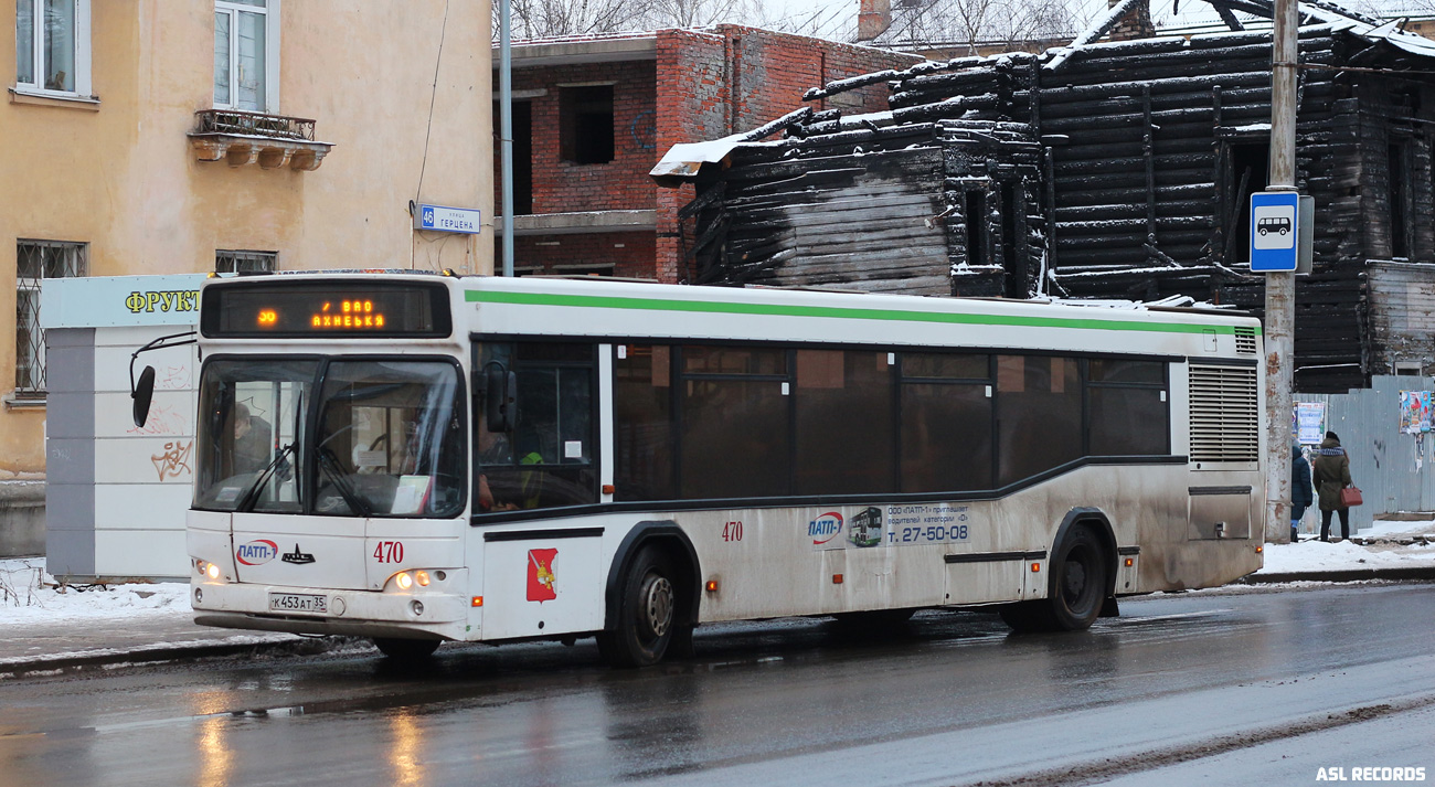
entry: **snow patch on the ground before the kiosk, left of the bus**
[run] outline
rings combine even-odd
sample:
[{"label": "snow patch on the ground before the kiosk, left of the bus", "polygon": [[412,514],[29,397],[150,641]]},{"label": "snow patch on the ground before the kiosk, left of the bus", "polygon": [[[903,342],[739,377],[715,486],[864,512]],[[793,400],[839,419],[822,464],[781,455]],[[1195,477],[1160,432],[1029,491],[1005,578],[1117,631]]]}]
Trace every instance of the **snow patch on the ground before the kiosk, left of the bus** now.
[{"label": "snow patch on the ground before the kiosk, left of the bus", "polygon": [[0,560],[0,629],[67,619],[188,616],[189,586],[178,582],[55,587],[43,557]]}]

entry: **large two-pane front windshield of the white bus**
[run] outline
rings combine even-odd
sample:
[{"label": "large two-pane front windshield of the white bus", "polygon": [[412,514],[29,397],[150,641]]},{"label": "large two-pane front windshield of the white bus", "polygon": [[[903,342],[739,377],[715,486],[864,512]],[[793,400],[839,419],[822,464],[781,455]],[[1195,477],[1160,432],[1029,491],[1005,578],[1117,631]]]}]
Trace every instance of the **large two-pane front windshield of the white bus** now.
[{"label": "large two-pane front windshield of the white bus", "polygon": [[456,516],[459,388],[446,360],[217,359],[199,385],[195,508]]}]

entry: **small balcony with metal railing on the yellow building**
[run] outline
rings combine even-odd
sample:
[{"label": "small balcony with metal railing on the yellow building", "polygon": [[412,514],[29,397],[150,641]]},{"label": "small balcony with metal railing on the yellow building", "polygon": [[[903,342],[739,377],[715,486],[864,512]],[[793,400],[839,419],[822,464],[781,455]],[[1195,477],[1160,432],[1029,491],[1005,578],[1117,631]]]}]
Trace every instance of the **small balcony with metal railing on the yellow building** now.
[{"label": "small balcony with metal railing on the yellow building", "polygon": [[311,172],[333,149],[329,142],[314,141],[314,121],[306,118],[234,109],[204,109],[194,116],[197,124],[189,132],[189,146],[199,161]]}]

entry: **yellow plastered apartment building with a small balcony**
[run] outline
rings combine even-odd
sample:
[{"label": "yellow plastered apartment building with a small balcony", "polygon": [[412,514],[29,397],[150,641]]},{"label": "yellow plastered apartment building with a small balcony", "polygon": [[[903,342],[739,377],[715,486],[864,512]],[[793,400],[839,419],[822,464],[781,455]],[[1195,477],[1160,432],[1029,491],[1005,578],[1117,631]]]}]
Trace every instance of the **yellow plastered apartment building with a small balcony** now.
[{"label": "yellow plastered apartment building with a small balcony", "polygon": [[[488,0],[0,0],[0,480],[44,471],[40,281],[491,273]],[[413,228],[412,202],[482,234]]]}]

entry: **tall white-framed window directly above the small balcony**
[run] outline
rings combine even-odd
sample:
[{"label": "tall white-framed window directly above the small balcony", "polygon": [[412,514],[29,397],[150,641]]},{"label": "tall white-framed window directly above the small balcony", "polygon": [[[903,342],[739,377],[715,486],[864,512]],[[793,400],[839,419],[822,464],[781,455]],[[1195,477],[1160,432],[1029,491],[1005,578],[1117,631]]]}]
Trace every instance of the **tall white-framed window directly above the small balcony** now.
[{"label": "tall white-framed window directly above the small balcony", "polygon": [[214,4],[214,106],[278,112],[278,0]]}]

